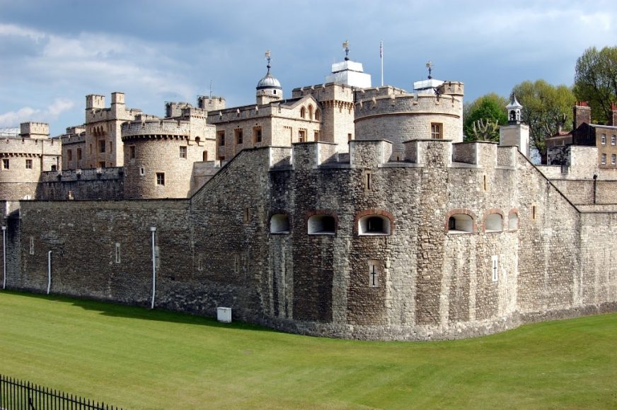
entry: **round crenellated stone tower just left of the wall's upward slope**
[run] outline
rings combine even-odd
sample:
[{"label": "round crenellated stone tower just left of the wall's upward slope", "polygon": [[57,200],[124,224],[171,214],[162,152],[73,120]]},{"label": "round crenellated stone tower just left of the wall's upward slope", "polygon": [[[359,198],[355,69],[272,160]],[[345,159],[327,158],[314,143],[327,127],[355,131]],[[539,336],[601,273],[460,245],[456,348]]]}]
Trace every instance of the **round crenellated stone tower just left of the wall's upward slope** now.
[{"label": "round crenellated stone tower just left of the wall's upward slope", "polygon": [[193,163],[203,146],[190,137],[190,122],[170,119],[122,124],[125,198],[186,198]]}]

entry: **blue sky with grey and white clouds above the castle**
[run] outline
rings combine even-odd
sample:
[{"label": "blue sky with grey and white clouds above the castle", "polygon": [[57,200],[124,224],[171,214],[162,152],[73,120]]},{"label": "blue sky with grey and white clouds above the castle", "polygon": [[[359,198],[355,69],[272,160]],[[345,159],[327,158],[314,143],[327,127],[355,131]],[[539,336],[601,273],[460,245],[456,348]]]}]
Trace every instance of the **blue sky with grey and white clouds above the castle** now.
[{"label": "blue sky with grey and white clouds above the castle", "polygon": [[264,52],[284,96],[321,84],[333,62],[364,64],[381,84],[463,81],[465,100],[507,97],[522,81],[571,86],[588,47],[617,45],[617,1],[0,0],[0,129],[83,124],[85,96],[125,93],[163,116],[166,101],[219,95],[255,102]]}]

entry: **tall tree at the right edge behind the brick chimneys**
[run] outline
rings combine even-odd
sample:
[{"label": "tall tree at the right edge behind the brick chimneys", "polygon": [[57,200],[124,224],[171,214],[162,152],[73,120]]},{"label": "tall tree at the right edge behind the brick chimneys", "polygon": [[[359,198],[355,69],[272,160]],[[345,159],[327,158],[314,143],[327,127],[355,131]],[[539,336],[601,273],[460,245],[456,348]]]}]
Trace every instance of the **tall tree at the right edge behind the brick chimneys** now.
[{"label": "tall tree at the right edge behind the brick chimneys", "polygon": [[611,115],[611,102],[617,101],[617,47],[586,49],[577,59],[575,71],[577,100],[589,102],[592,119],[604,124]]}]

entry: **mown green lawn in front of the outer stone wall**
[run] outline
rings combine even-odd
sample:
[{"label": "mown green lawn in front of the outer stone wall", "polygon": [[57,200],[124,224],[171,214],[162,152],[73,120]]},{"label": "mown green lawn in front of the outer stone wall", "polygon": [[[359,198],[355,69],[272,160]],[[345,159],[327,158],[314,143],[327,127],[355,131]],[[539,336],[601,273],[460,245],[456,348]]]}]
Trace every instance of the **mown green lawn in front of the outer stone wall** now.
[{"label": "mown green lawn in front of the outer stone wall", "polygon": [[125,409],[617,408],[617,315],[363,342],[5,291],[0,373]]}]

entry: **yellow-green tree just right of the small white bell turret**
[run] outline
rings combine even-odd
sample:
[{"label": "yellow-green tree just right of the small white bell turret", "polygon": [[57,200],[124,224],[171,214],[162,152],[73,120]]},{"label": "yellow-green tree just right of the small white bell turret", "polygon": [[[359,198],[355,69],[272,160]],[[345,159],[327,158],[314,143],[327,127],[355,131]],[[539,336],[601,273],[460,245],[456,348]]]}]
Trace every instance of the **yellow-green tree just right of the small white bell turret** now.
[{"label": "yellow-green tree just right of the small white bell turret", "polygon": [[[572,129],[572,107],[576,98],[569,87],[553,86],[544,80],[523,81],[512,88],[523,106],[521,121],[529,125],[531,146],[546,164],[546,137]],[[510,98],[512,98],[510,95]]]}]

